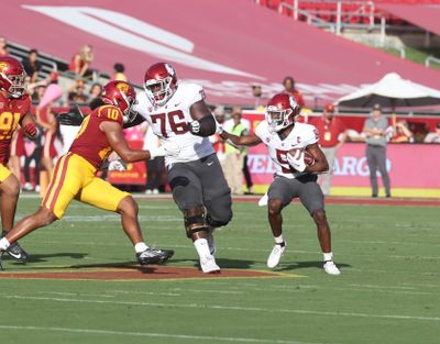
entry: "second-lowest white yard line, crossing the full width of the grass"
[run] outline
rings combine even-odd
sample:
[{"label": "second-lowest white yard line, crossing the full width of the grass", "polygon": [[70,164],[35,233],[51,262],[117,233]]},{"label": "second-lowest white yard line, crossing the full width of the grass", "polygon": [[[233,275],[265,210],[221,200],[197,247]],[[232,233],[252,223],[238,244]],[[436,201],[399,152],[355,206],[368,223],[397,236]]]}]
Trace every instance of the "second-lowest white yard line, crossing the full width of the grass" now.
[{"label": "second-lowest white yard line, crossing the full width of the grass", "polygon": [[84,299],[62,299],[62,298],[44,298],[31,296],[18,296],[0,293],[4,299],[18,300],[40,300],[40,301],[54,301],[54,302],[73,302],[73,303],[102,303],[102,304],[130,304],[134,307],[161,307],[161,308],[190,308],[190,309],[212,309],[212,310],[229,310],[242,312],[264,312],[264,313],[292,313],[292,314],[308,314],[308,315],[322,315],[322,317],[349,317],[349,318],[376,318],[376,319],[392,319],[392,320],[410,320],[410,321],[427,321],[439,322],[440,317],[418,317],[418,315],[399,315],[399,314],[369,314],[369,313],[354,313],[354,312],[328,312],[328,311],[314,311],[314,310],[299,310],[299,309],[282,309],[282,308],[261,308],[261,307],[240,307],[240,306],[220,306],[220,304],[199,304],[199,303],[161,303],[161,302],[135,302],[135,301],[110,301],[110,300],[84,300]]}]

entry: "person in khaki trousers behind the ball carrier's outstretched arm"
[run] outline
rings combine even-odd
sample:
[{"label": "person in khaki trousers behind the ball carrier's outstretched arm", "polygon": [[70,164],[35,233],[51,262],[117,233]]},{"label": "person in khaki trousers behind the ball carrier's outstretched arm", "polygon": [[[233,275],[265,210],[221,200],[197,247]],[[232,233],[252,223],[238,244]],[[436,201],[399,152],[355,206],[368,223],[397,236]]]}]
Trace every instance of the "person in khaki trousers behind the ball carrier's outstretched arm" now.
[{"label": "person in khaki trousers behind the ball carrier's outstretched arm", "polygon": [[[231,112],[231,120],[224,122],[223,129],[235,136],[245,136],[249,133],[246,125],[241,122],[241,108],[234,107]],[[227,142],[224,163],[224,177],[233,195],[243,195],[243,164],[246,148],[235,147]]]}]

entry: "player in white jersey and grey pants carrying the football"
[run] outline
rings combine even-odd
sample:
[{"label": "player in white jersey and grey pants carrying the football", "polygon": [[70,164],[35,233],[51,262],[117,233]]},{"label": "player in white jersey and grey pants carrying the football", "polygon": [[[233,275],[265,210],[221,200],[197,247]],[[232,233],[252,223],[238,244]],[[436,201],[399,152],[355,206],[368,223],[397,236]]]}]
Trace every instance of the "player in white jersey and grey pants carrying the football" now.
[{"label": "player in white jersey and grey pants carrying the football", "polygon": [[222,132],[220,136],[238,146],[264,143],[274,162],[275,178],[267,191],[267,209],[275,245],[268,256],[267,266],[276,267],[286,249],[282,210],[294,198],[299,198],[317,225],[324,271],[339,275],[340,270],[333,263],[331,252],[330,226],[324,212],[323,195],[316,175],[327,171],[329,165],[318,146],[317,129],[296,122],[299,107],[292,96],[278,93],[268,101],[265,121],[257,125],[254,134],[239,137]]}]

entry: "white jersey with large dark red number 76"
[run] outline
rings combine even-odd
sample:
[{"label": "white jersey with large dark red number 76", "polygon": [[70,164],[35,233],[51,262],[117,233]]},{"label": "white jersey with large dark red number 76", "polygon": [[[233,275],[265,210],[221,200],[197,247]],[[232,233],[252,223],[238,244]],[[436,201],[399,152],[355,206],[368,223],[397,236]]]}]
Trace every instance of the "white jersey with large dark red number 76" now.
[{"label": "white jersey with large dark red number 76", "polygon": [[165,165],[188,163],[213,154],[209,137],[193,135],[188,123],[194,121],[189,108],[205,99],[201,86],[179,82],[173,97],[164,106],[153,106],[145,92],[139,92],[133,110],[153,127],[162,143],[173,141],[180,147],[178,156],[166,156]]}]

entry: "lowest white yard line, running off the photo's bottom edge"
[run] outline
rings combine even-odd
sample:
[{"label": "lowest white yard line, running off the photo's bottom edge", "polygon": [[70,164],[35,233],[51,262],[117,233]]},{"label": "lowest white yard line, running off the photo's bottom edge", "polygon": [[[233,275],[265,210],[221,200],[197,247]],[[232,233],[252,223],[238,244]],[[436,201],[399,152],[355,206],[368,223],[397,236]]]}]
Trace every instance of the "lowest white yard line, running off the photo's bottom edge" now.
[{"label": "lowest white yard line, running off the photo's bottom edge", "polygon": [[[123,336],[145,336],[145,337],[162,337],[174,340],[188,341],[222,341],[235,343],[270,343],[270,344],[323,344],[317,342],[298,342],[298,341],[282,341],[282,340],[261,340],[261,339],[243,339],[228,336],[211,336],[211,335],[189,335],[189,334],[170,334],[170,333],[153,333],[153,332],[129,332],[129,331],[110,331],[110,330],[94,330],[94,329],[74,329],[74,328],[46,328],[46,326],[19,326],[19,325],[1,325],[1,330],[18,330],[18,331],[42,331],[42,332],[67,332],[67,333],[84,333],[84,334],[105,334],[105,335],[123,335]],[[123,342],[122,342],[123,343]],[[327,343],[330,344],[330,343]],[[333,343],[336,344],[336,343]]]}]

